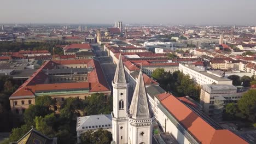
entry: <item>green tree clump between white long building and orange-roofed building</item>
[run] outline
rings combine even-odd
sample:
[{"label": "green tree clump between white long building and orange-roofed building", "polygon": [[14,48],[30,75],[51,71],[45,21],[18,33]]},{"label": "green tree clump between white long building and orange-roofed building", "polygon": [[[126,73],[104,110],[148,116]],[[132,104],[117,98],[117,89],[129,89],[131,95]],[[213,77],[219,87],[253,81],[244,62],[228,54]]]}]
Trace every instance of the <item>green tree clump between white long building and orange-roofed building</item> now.
[{"label": "green tree clump between white long building and orange-roofed building", "polygon": [[172,92],[176,97],[188,95],[194,100],[200,99],[200,86],[184,75],[181,71],[174,71],[173,74],[166,72],[163,68],[153,71],[152,77],[156,79],[162,88],[167,92]]}]

